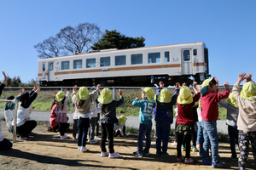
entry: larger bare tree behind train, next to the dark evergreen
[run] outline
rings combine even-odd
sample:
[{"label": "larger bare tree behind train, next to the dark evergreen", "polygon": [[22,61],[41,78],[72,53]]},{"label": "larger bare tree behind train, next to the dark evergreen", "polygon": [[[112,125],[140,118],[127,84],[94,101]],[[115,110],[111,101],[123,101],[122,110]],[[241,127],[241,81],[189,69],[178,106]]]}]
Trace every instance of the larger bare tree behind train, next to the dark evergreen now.
[{"label": "larger bare tree behind train, next to the dark evergreen", "polygon": [[90,45],[102,35],[96,24],[84,23],[79,26],[67,26],[56,35],[64,50],[69,53],[82,53],[90,50]]}]

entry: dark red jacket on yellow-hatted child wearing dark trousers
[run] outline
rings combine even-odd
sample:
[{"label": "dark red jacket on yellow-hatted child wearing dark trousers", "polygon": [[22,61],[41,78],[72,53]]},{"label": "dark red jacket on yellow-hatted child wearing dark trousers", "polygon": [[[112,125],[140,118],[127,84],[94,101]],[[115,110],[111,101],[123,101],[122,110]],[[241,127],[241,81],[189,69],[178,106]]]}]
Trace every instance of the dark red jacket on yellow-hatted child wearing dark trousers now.
[{"label": "dark red jacket on yellow-hatted child wearing dark trousers", "polygon": [[200,99],[201,94],[197,93],[193,97],[193,102],[187,105],[180,105],[177,103],[177,125],[184,124],[194,126],[194,116],[192,107],[195,105],[195,102]]}]

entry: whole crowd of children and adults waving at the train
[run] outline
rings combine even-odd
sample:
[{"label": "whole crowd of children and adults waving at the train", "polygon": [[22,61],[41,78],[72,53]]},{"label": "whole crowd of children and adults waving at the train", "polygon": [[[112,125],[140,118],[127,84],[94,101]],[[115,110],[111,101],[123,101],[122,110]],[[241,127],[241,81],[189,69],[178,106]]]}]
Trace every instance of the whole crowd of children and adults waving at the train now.
[{"label": "whole crowd of children and adults waving at the train", "polygon": [[[2,94],[6,76],[3,72],[4,80],[0,86],[0,95]],[[243,85],[240,92],[239,86],[242,81]],[[218,93],[218,79],[212,77],[205,80],[201,86],[194,82],[193,89],[190,90],[185,83],[180,88],[180,84],[175,84],[174,94],[167,88],[164,83],[159,83],[157,93],[154,95],[152,88],[142,88],[142,99],[138,97],[132,102],[132,105],[140,107],[140,126],[137,139],[137,150],[132,153],[133,156],[143,157],[149,155],[152,131],[152,113],[154,112],[155,134],[156,134],[156,156],[166,157],[169,134],[171,124],[173,122],[173,105],[177,105],[177,126],[176,145],[177,145],[177,161],[185,163],[193,163],[190,156],[191,138],[196,139],[199,156],[202,157],[202,163],[212,165],[212,167],[225,167],[225,163],[219,160],[218,155],[218,103],[227,109],[227,120],[230,135],[231,158],[238,160],[239,169],[245,169],[248,157],[249,141],[253,147],[253,156],[256,157],[256,83],[252,80],[252,74],[242,72],[238,76],[238,81],[233,86],[230,93],[230,85],[224,82],[226,88],[223,93]],[[97,123],[101,124],[101,156],[109,158],[119,157],[113,149],[113,131],[119,128],[122,135],[125,134],[121,127],[124,127],[126,117],[121,116],[117,119],[116,107],[123,105],[123,91],[119,90],[119,100],[113,100],[112,91],[109,88],[102,89],[100,93],[100,85],[96,90],[89,94],[85,87],[73,87],[73,139],[76,139],[78,133],[78,150],[85,152],[87,134],[89,132],[90,144],[98,142],[95,139],[95,127]],[[17,111],[17,135],[20,139],[30,139],[28,136],[32,129],[37,126],[36,121],[30,120],[32,111],[32,102],[37,98],[40,86],[35,83],[30,93],[24,90],[20,91],[18,96],[9,96],[8,99],[16,99],[20,101]],[[58,125],[60,138],[66,139],[65,130],[68,126],[67,120],[67,99],[69,97],[68,90],[66,94],[62,91],[55,93],[54,102],[51,106],[50,124],[52,127]],[[228,99],[224,102],[223,99]],[[14,105],[13,101],[6,102],[4,106],[6,122],[9,131],[13,131],[14,121]],[[195,107],[196,105],[196,107]],[[195,109],[197,108],[197,109]],[[196,113],[195,113],[196,112]],[[97,119],[98,114],[100,118]],[[196,126],[196,122],[197,126]],[[117,126],[115,126],[117,125]],[[195,131],[197,127],[197,133]],[[1,129],[1,122],[0,122]],[[10,149],[12,144],[8,139],[3,137],[0,131],[0,150]],[[98,131],[97,131],[98,132]],[[197,135],[196,135],[197,134]],[[108,138],[108,151],[106,142]],[[143,149],[143,139],[146,144]],[[239,144],[240,156],[237,159],[236,144]],[[185,159],[182,156],[182,146],[185,145]],[[193,144],[193,148],[195,144]],[[211,149],[212,156],[209,156]]]}]

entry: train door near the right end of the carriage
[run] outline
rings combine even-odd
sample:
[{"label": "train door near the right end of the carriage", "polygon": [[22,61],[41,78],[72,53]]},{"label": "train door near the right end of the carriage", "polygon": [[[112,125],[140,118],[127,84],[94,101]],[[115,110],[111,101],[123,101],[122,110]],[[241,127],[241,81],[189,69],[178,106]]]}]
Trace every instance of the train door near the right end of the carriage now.
[{"label": "train door near the right end of the carriage", "polygon": [[189,75],[193,73],[191,49],[182,50],[182,71],[183,75]]}]

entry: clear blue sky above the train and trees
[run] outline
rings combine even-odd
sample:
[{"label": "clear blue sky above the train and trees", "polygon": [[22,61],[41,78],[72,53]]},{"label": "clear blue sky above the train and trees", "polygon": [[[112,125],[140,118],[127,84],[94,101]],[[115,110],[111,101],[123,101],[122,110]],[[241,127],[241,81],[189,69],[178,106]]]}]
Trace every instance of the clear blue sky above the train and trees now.
[{"label": "clear blue sky above the train and trees", "polygon": [[102,32],[143,36],[146,47],[205,42],[210,74],[220,85],[233,85],[241,71],[253,73],[255,81],[255,7],[255,0],[0,1],[1,71],[22,82],[35,79],[39,58],[33,46],[61,28],[90,22]]}]

